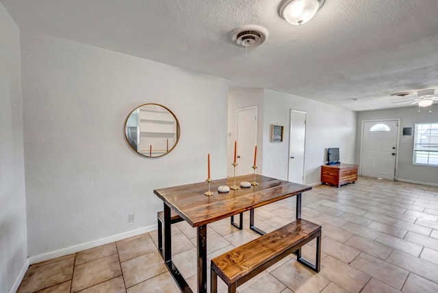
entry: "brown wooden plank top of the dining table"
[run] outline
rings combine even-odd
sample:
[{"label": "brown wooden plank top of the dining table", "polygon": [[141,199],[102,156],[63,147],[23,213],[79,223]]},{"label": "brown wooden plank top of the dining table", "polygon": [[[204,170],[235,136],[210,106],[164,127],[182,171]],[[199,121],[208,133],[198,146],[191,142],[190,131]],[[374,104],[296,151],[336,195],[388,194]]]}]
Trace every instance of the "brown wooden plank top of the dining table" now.
[{"label": "brown wooden plank top of the dining table", "polygon": [[[311,186],[256,175],[258,186],[218,192],[219,186],[233,186],[233,180],[234,177],[229,177],[212,181],[210,189],[214,194],[211,196],[204,195],[208,190],[207,182],[160,188],[153,192],[192,227],[199,227],[311,190]],[[253,180],[252,174],[235,177],[237,186],[242,181]]]}]

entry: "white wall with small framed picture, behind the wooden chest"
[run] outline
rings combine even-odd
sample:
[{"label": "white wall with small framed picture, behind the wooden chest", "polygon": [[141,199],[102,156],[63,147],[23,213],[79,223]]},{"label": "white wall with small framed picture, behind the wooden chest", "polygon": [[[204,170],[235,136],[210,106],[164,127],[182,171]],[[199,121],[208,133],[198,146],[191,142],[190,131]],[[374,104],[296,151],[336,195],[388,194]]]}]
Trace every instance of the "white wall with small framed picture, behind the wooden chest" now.
[{"label": "white wall with small framed picture, behind the wooden chest", "polygon": [[[356,112],[292,94],[264,90],[263,175],[287,180],[291,109],[307,112],[305,184],[321,182],[326,148],[339,147],[341,162],[355,163]],[[283,142],[270,142],[272,124],[285,127]]]}]

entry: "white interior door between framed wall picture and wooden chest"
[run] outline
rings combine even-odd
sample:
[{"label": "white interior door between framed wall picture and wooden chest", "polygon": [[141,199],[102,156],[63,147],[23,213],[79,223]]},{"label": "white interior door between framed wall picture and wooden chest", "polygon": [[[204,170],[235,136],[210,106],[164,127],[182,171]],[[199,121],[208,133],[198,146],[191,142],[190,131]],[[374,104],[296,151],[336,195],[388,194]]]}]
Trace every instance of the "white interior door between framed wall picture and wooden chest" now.
[{"label": "white interior door between framed wall picture and wooden chest", "polygon": [[289,171],[287,180],[304,182],[304,158],[306,139],[306,113],[290,111]]}]

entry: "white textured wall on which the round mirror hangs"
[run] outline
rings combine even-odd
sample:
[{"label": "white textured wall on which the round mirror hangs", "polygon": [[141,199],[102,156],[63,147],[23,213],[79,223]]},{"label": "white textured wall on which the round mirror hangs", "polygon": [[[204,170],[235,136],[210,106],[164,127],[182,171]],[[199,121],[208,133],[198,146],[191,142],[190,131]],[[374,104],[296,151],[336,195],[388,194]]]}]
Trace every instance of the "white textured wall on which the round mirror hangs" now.
[{"label": "white textured wall on which the round mirror hangs", "polygon": [[[29,255],[154,227],[153,190],[205,180],[207,153],[212,177],[227,176],[227,80],[23,30],[21,45]],[[179,119],[169,155],[127,146],[142,103]]]}]

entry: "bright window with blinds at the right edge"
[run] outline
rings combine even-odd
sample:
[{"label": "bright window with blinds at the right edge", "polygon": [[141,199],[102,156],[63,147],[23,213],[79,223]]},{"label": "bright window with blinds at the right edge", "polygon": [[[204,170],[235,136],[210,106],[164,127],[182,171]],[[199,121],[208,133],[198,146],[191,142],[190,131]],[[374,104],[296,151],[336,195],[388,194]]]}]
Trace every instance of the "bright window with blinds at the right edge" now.
[{"label": "bright window with blinds at the right edge", "polygon": [[438,166],[438,123],[415,123],[413,164]]}]

